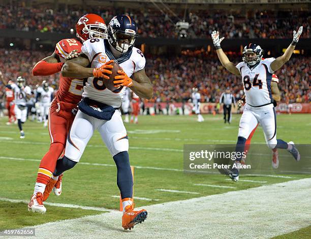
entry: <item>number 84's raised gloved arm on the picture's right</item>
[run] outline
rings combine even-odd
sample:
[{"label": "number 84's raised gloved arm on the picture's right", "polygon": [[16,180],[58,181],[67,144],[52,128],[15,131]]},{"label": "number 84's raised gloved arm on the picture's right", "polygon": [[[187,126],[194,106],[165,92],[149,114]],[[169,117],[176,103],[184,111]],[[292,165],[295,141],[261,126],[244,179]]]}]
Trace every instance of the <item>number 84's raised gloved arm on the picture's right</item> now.
[{"label": "number 84's raised gloved arm on the picture's right", "polygon": [[289,61],[289,59],[291,58],[291,56],[295,50],[296,44],[299,41],[301,33],[302,33],[302,26],[299,27],[297,32],[294,30],[293,42],[291,43],[291,45],[289,45],[289,47],[286,49],[286,51],[284,52],[284,54],[282,56],[277,57],[274,61],[271,62],[270,67],[271,67],[272,71],[274,71],[274,72],[277,71],[287,61]]}]

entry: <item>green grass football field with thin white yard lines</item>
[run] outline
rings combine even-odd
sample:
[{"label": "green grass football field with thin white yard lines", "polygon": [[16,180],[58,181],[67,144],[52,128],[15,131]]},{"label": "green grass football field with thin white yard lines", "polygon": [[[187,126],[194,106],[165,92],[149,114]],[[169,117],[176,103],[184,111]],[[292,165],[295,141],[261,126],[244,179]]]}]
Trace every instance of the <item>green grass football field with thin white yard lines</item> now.
[{"label": "green grass football field with thin white yard lines", "polygon": [[[230,125],[224,124],[221,115],[205,115],[204,118],[203,123],[198,123],[196,116],[140,116],[139,124],[126,124],[137,207],[311,177],[241,176],[240,179],[247,182],[233,183],[223,175],[184,174],[184,144],[236,142],[240,115],[233,115]],[[96,215],[106,209],[119,208],[116,167],[96,132],[80,163],[64,174],[63,193],[59,197],[51,194],[48,198],[47,213],[28,212],[25,202],[32,196],[40,160],[49,148],[48,129],[41,123],[27,121],[24,124],[25,139],[21,140],[17,125],[7,126],[6,121],[7,118],[0,118],[0,231]],[[278,115],[277,138],[294,141],[295,144],[309,144],[310,126],[307,114]],[[255,144],[265,143],[260,127],[252,141]],[[69,208],[64,208],[64,204]],[[73,206],[92,207],[94,210]],[[306,238],[304,235],[310,230],[307,227],[297,231],[296,236],[291,234],[277,238]]]}]

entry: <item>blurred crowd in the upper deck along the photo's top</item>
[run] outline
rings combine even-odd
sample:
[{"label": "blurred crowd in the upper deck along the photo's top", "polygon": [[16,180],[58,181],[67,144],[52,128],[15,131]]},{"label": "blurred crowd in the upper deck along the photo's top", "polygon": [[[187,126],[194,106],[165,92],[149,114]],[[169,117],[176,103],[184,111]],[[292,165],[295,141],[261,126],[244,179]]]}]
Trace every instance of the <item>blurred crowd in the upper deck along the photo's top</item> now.
[{"label": "blurred crowd in the upper deck along the photo's top", "polygon": [[[102,15],[109,22],[117,11],[111,12],[98,7],[53,11],[46,7],[0,6],[0,29],[69,33],[77,20],[86,13]],[[183,19],[183,11],[179,11],[174,13],[175,16],[156,9],[119,9],[118,13],[130,14],[135,18],[141,37],[178,38],[175,24]],[[311,18],[308,12],[254,10],[248,14],[232,12],[228,15],[201,10],[189,11],[185,15],[185,21],[190,23],[188,34],[191,38],[210,38],[212,30],[217,28],[226,38],[284,39],[291,38],[293,26],[300,25],[304,27],[301,38],[309,38]]]}]

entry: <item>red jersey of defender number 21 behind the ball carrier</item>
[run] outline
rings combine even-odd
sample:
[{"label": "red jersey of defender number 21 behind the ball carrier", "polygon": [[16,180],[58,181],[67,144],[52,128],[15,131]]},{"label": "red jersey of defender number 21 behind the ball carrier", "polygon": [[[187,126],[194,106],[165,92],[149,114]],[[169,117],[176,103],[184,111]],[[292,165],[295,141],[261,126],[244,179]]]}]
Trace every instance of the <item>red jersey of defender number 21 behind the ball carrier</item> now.
[{"label": "red jersey of defender number 21 behind the ball carrier", "polygon": [[[82,43],[76,39],[63,39],[56,44],[54,53],[64,62],[66,56],[73,50],[81,52]],[[83,92],[83,79],[72,79],[59,76],[59,88],[55,94],[57,101],[78,104]]]}]

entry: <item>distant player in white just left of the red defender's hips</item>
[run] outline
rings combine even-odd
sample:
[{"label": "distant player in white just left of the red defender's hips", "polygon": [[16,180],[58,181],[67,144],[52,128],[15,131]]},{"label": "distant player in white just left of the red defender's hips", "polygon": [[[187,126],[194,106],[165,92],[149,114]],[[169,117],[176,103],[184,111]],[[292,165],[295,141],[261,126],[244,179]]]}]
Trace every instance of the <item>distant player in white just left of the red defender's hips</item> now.
[{"label": "distant player in white just left of the red defender's hips", "polygon": [[54,98],[54,89],[49,86],[47,81],[42,82],[42,86],[37,89],[37,102],[40,103],[40,113],[44,122],[44,127],[47,126],[49,108]]}]

